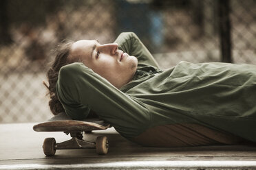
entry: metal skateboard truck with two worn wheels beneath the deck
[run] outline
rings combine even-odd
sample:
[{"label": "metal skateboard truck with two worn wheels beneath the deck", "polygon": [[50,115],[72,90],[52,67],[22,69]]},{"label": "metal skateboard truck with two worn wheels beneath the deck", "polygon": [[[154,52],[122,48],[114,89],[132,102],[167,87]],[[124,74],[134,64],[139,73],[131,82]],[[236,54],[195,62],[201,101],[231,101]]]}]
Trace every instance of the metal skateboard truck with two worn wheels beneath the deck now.
[{"label": "metal skateboard truck with two worn wheels beneath the deck", "polygon": [[83,132],[64,132],[70,134],[72,139],[56,143],[55,138],[45,138],[43,152],[46,156],[54,156],[56,149],[94,149],[97,154],[107,154],[109,144],[106,136],[98,136],[96,143],[83,140]]}]

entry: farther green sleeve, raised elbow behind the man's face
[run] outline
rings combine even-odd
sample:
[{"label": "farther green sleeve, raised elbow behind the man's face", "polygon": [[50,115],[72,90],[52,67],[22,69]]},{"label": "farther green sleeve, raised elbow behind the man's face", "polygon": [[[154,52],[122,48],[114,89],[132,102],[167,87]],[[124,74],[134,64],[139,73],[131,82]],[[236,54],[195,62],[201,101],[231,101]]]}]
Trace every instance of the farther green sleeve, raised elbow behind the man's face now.
[{"label": "farther green sleeve, raised elbow behind the man's face", "polygon": [[118,43],[119,49],[138,59],[138,68],[142,66],[156,66],[159,69],[156,60],[134,32],[123,32],[114,42]]}]

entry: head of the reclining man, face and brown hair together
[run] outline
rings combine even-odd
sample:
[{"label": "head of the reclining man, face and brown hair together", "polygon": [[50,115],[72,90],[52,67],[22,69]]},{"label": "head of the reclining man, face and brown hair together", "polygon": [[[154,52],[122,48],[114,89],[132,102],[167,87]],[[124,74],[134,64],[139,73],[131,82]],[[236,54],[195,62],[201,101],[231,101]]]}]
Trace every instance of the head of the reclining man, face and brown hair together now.
[{"label": "head of the reclining man, face and brown hair together", "polygon": [[47,71],[49,85],[43,82],[49,90],[49,106],[54,115],[65,112],[56,95],[58,72],[62,66],[72,62],[83,62],[85,66],[105,77],[116,88],[120,88],[131,80],[138,64],[137,58],[118,50],[117,44],[100,45],[96,40],[61,43],[56,48],[56,58]]}]

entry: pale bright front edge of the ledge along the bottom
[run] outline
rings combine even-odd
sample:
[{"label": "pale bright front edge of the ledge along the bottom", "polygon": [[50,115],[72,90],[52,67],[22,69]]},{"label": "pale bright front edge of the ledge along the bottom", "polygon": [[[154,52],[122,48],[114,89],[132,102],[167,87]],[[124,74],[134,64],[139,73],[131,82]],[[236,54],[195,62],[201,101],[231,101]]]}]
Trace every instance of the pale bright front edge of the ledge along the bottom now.
[{"label": "pale bright front edge of the ledge along the bottom", "polygon": [[123,161],[76,165],[0,165],[0,169],[256,169],[256,161]]}]

